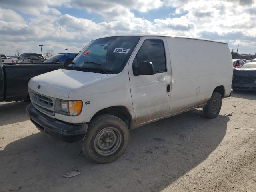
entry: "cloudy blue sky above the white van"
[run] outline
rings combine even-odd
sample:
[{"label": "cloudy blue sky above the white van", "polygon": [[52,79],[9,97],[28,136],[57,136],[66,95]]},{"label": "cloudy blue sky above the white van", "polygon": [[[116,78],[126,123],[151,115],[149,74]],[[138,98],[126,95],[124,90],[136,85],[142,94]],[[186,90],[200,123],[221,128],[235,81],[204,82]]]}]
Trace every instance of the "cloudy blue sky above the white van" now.
[{"label": "cloudy blue sky above the white van", "polygon": [[80,51],[90,40],[123,33],[220,40],[254,54],[256,0],[0,0],[0,52],[59,48]]}]

